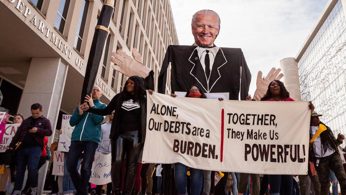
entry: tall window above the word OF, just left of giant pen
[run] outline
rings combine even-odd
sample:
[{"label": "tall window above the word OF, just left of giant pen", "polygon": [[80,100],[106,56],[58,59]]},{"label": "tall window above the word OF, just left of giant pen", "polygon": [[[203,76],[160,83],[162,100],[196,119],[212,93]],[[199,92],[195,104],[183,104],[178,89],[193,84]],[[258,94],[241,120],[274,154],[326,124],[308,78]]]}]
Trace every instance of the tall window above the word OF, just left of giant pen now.
[{"label": "tall window above the word OF, just left of giant pen", "polygon": [[78,51],[81,51],[85,21],[86,21],[86,16],[88,15],[88,8],[89,8],[89,0],[83,0],[82,10],[81,10],[81,14],[79,16],[79,22],[78,22],[78,26],[77,26],[76,38],[74,40],[74,47]]}]

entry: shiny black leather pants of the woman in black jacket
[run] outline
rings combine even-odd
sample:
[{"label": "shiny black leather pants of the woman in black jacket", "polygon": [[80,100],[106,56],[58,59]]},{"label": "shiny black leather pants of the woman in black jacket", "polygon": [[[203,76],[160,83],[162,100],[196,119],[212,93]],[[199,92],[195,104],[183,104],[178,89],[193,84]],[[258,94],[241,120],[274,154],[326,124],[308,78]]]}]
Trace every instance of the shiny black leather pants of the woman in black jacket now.
[{"label": "shiny black leather pants of the woman in black jacket", "polygon": [[138,130],[128,131],[112,139],[112,168],[111,178],[113,193],[121,194],[121,165],[126,152],[126,175],[123,195],[132,193],[135,183],[135,170],[141,143],[139,143]]}]

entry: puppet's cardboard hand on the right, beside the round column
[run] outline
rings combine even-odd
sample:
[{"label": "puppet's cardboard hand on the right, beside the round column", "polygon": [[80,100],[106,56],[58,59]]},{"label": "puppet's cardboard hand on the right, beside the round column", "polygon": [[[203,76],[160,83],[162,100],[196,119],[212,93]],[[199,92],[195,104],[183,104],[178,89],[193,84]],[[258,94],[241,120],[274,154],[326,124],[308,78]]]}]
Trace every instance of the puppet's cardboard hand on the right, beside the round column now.
[{"label": "puppet's cardboard hand on the right, beside the round column", "polygon": [[262,71],[258,71],[257,80],[256,80],[257,88],[254,94],[254,98],[253,98],[254,100],[260,101],[261,98],[267,92],[269,83],[272,82],[273,80],[280,80],[284,76],[282,73],[279,75],[280,71],[281,71],[280,68],[278,69],[272,68],[265,78],[264,77],[262,78]]}]

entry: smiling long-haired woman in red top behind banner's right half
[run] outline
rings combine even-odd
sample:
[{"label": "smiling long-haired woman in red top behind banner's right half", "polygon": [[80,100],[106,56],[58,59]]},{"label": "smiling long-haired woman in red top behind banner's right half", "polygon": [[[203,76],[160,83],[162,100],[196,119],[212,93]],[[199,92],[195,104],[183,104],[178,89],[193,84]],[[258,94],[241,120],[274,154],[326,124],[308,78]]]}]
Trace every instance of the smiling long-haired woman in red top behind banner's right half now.
[{"label": "smiling long-haired woman in red top behind banner's right half", "polygon": [[[261,98],[261,101],[294,101],[290,97],[290,93],[286,90],[286,87],[280,80],[273,80],[268,85],[266,94]],[[315,107],[309,102],[309,109],[313,111]],[[282,187],[283,195],[291,195],[293,178],[292,175],[268,175],[270,190],[272,195],[280,194],[280,187]],[[265,184],[261,184],[263,187]],[[268,184],[266,184],[268,186]],[[261,189],[262,192],[262,189]]]}]

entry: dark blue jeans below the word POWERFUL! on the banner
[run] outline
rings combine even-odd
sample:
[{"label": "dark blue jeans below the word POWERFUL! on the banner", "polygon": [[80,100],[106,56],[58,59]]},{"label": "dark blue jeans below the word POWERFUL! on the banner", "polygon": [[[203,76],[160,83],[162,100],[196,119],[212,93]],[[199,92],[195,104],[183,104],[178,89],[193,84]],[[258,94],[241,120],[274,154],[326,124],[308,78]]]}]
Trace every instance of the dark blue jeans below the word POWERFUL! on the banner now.
[{"label": "dark blue jeans below the word POWERFUL! on the banner", "polygon": [[293,188],[292,175],[269,175],[269,185],[272,195],[280,194],[280,187],[282,188],[283,195],[291,195]]}]

